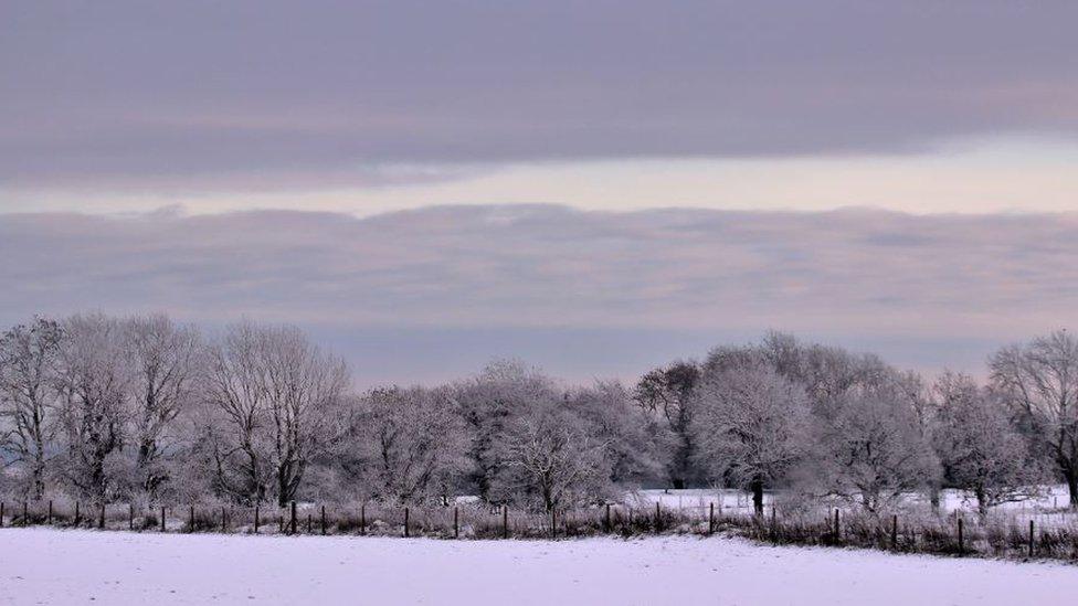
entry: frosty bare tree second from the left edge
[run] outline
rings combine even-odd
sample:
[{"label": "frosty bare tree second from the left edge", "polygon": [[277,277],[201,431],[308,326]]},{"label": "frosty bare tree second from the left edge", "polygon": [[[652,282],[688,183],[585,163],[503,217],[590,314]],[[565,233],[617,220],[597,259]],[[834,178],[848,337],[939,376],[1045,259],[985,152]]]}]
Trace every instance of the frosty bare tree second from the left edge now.
[{"label": "frosty bare tree second from the left edge", "polygon": [[83,495],[105,502],[116,488],[129,418],[130,369],[119,322],[101,315],[63,323],[57,390],[66,439],[63,474]]}]

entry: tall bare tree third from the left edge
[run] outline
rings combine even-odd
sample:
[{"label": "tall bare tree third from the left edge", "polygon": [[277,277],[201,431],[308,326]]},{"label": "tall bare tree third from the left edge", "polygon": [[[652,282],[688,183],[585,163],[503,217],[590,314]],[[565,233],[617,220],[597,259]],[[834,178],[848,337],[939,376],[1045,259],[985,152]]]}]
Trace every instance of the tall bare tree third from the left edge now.
[{"label": "tall bare tree third from the left edge", "polygon": [[166,463],[179,451],[177,417],[194,404],[203,352],[193,327],[163,315],[133,318],[125,328],[133,365],[135,482],[154,500],[169,479]]}]

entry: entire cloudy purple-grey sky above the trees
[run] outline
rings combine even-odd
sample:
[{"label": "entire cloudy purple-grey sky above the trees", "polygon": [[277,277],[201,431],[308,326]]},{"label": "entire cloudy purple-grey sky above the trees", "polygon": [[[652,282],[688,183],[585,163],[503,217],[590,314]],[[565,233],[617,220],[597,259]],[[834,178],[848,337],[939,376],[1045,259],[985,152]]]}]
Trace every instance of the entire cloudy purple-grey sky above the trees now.
[{"label": "entire cloudy purple-grey sky above the trees", "polygon": [[1078,304],[1078,4],[0,1],[0,322],[307,328],[362,384],[769,329],[982,372]]}]

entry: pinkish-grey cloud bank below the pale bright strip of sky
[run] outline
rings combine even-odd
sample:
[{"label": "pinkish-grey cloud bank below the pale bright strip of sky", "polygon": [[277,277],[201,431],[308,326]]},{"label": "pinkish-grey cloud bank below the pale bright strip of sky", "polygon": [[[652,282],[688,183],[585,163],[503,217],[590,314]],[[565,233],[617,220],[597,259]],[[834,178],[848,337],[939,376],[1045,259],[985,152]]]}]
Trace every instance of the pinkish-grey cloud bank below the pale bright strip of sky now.
[{"label": "pinkish-grey cloud bank below the pale bright strip of sky", "polygon": [[1076,228],[1072,214],[857,209],[9,214],[0,309],[8,321],[168,309],[350,328],[1011,338],[1071,317]]}]

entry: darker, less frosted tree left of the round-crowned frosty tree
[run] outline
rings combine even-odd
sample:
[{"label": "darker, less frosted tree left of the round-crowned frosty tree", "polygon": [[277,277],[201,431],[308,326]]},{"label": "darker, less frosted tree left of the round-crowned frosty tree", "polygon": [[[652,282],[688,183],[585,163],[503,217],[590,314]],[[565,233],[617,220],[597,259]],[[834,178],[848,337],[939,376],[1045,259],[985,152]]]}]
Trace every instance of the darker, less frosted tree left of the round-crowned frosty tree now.
[{"label": "darker, less frosted tree left of the round-crowned frosty tree", "polygon": [[694,445],[689,424],[693,418],[693,390],[700,369],[693,362],[674,362],[654,369],[636,384],[633,398],[656,423],[658,444],[666,454],[666,476],[674,488],[696,480]]}]

